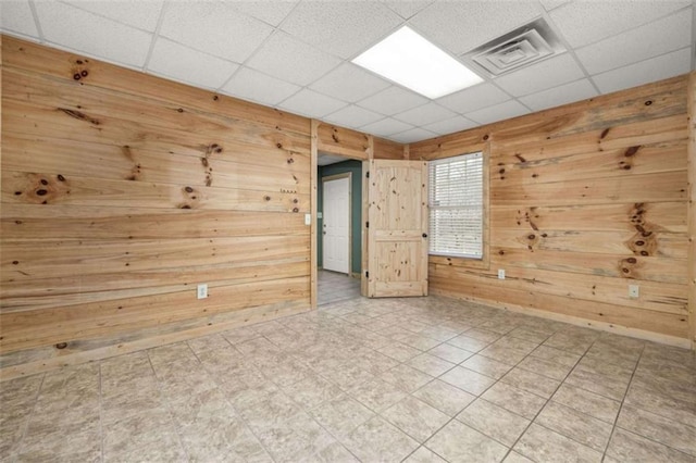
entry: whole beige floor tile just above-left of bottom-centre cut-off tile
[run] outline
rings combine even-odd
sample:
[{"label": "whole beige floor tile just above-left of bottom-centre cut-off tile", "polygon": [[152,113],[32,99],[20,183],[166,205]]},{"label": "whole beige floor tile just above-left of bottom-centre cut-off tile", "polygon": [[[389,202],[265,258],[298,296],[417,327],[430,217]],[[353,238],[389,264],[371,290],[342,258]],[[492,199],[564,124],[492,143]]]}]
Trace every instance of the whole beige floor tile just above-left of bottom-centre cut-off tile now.
[{"label": "whole beige floor tile just above-left of bottom-centre cut-off tile", "polygon": [[347,395],[328,400],[309,413],[338,438],[348,436],[355,428],[375,415],[370,409]]}]

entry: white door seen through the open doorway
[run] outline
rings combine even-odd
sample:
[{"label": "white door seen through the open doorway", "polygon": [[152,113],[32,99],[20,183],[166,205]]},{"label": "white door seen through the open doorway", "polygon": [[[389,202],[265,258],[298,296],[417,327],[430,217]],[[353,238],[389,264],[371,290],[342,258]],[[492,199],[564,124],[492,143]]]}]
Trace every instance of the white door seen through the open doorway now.
[{"label": "white door seen through the open doorway", "polygon": [[324,270],[350,274],[350,177],[323,182]]}]

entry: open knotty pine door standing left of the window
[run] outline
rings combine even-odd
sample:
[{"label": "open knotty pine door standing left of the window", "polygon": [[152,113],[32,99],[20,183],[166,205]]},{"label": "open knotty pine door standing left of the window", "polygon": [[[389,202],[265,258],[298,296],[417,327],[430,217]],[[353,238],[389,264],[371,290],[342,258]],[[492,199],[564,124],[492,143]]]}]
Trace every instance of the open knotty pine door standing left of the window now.
[{"label": "open knotty pine door standing left of the window", "polygon": [[427,163],[370,161],[368,296],[427,296]]}]

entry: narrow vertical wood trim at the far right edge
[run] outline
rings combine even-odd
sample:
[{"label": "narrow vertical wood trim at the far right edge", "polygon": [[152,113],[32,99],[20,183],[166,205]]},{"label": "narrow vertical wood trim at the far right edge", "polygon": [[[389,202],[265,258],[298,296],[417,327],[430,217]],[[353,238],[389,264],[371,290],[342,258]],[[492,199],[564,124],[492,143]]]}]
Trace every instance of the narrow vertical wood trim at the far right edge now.
[{"label": "narrow vertical wood trim at the far right edge", "polygon": [[688,339],[696,350],[696,71],[688,76]]}]

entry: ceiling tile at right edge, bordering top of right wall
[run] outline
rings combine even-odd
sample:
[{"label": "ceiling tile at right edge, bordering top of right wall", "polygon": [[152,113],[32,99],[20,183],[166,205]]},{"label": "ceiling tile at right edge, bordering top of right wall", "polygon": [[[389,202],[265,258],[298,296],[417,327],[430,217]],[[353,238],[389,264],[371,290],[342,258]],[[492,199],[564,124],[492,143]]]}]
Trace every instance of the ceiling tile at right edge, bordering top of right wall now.
[{"label": "ceiling tile at right edge, bordering top of right wall", "polygon": [[685,74],[691,70],[691,48],[673,51],[658,58],[642,61],[593,76],[602,93],[622,90],[669,77]]}]

